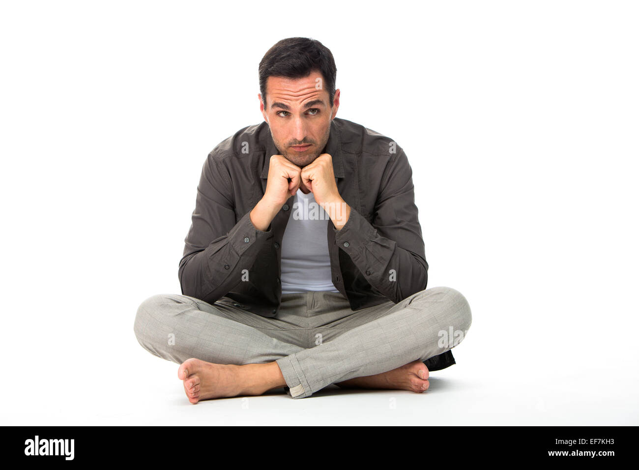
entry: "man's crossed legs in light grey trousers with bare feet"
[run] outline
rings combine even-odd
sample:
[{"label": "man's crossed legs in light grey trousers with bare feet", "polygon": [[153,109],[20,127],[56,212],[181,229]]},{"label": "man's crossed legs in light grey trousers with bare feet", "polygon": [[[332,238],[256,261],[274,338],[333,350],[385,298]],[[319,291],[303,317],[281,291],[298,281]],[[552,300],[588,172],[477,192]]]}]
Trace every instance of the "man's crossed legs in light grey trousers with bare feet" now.
[{"label": "man's crossed legs in light grey trousers with bare feet", "polygon": [[[390,305],[358,311],[357,326],[349,329],[346,318],[344,333],[312,348],[273,337],[275,320],[183,295],[146,299],[134,329],[142,347],[180,363],[178,377],[192,403],[281,387],[304,398],[332,383],[419,393],[428,386],[422,361],[461,341],[472,321],[470,306],[447,287]],[[362,318],[370,321],[362,324]]]}]

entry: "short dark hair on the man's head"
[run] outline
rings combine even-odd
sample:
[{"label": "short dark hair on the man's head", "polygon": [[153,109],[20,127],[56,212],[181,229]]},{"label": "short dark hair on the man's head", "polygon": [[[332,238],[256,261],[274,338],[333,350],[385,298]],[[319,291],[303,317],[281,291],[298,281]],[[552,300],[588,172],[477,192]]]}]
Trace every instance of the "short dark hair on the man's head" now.
[{"label": "short dark hair on the man's head", "polygon": [[299,79],[308,77],[313,70],[321,72],[322,86],[328,90],[328,104],[333,107],[337,68],[330,50],[311,38],[286,38],[275,43],[259,61],[259,93],[265,109],[268,77]]}]

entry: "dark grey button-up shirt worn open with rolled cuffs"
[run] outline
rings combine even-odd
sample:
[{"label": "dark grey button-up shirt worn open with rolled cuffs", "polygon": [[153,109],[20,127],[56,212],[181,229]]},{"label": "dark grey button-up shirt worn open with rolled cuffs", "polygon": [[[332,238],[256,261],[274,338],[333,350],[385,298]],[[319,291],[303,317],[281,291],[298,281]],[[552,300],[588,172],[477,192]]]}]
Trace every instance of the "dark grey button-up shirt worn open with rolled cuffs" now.
[{"label": "dark grey button-up shirt worn open with rolled cuffs", "polygon": [[[335,288],[353,310],[426,289],[428,263],[404,150],[389,137],[334,118],[321,153],[331,155],[337,189],[351,207],[341,230],[328,223]],[[282,237],[295,196],[266,231],[250,221],[277,154],[266,122],[238,130],[208,154],[178,269],[183,295],[277,315]],[[449,353],[440,355],[449,358],[444,366],[454,364]]]}]

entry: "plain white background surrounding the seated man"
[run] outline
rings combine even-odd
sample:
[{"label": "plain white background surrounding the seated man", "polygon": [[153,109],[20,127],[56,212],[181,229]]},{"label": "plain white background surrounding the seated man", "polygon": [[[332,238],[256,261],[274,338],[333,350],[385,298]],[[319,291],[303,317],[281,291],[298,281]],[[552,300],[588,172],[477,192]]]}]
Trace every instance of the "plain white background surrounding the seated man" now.
[{"label": "plain white background surrounding the seated man", "polygon": [[[634,2],[3,2],[3,424],[639,424]],[[424,394],[190,405],[137,343],[180,294],[206,155],[258,63],[334,54],[338,117],[401,145],[428,287],[470,302]]]}]

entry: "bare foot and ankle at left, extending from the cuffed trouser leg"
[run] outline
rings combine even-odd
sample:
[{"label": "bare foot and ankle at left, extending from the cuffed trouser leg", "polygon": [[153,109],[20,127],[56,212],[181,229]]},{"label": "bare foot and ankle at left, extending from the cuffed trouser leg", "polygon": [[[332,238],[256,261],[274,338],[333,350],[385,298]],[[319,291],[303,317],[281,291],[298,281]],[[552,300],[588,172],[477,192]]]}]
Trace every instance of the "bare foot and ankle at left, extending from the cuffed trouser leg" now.
[{"label": "bare foot and ankle at left, extending from the cuffed trouser leg", "polygon": [[238,395],[262,395],[265,391],[286,386],[277,363],[213,364],[187,359],[178,368],[189,402]]}]

